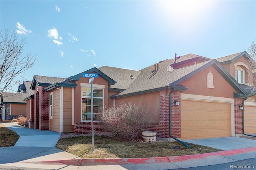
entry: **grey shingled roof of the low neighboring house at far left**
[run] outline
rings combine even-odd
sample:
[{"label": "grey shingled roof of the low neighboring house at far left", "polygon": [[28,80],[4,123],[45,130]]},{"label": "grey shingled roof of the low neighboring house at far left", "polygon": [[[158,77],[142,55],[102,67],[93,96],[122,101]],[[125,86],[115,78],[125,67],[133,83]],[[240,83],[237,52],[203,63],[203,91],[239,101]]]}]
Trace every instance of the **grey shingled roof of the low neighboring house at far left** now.
[{"label": "grey shingled roof of the low neighboring house at far left", "polygon": [[26,103],[24,98],[28,97],[28,93],[3,93],[3,103]]}]

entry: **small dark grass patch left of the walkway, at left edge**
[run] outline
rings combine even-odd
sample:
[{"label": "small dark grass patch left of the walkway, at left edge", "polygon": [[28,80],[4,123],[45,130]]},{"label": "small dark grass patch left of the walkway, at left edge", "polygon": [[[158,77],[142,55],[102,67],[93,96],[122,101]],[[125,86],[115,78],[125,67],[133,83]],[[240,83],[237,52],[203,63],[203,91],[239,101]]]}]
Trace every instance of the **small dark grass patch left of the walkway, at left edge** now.
[{"label": "small dark grass patch left of the walkway, at left edge", "polygon": [[20,136],[0,124],[0,147],[14,146]]}]

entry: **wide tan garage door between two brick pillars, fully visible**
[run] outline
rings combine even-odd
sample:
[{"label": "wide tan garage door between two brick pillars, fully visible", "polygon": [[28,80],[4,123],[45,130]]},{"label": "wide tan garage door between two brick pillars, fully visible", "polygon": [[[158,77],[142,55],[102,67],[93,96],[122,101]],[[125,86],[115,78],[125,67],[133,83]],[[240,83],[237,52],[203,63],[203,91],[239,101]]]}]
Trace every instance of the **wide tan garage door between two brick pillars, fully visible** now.
[{"label": "wide tan garage door between two brick pillars, fully visible", "polygon": [[231,104],[181,101],[181,139],[231,136]]}]

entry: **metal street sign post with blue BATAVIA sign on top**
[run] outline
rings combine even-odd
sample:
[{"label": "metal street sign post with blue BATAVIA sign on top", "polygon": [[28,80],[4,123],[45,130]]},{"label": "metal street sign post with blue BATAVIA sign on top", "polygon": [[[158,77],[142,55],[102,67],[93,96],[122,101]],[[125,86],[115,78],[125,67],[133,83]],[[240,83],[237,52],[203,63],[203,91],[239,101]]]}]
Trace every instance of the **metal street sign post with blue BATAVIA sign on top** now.
[{"label": "metal street sign post with blue BATAVIA sign on top", "polygon": [[92,82],[94,81],[94,77],[99,77],[98,73],[83,73],[83,77],[89,78],[89,83],[91,84],[91,121],[92,121],[92,151],[94,151],[94,133],[93,133],[93,88],[92,88]]}]

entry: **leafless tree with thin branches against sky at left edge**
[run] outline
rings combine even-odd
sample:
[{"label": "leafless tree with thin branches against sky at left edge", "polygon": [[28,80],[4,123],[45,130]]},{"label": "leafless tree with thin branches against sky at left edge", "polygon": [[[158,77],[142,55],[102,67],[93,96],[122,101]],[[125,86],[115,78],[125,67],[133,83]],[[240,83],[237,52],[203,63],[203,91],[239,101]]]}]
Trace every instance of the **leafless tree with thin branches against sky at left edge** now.
[{"label": "leafless tree with thin branches against sky at left edge", "polygon": [[[0,97],[3,91],[12,91],[12,87],[19,83],[20,75],[34,66],[36,56],[28,52],[22,55],[25,39],[18,40],[16,32],[9,34],[9,29],[1,30],[0,42]],[[22,77],[22,79],[24,79]]]}]

